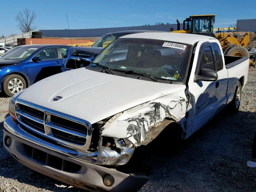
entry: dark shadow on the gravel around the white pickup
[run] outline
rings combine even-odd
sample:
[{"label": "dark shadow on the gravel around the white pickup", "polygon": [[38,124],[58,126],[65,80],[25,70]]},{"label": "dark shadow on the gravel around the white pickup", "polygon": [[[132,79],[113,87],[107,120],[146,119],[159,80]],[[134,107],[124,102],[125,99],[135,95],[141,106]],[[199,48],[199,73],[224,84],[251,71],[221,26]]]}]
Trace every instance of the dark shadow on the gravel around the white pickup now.
[{"label": "dark shadow on the gravel around the white pickup", "polygon": [[[142,191],[254,191],[256,171],[247,167],[246,162],[251,160],[255,115],[248,111],[229,115],[223,110],[175,151],[170,151],[172,146],[168,145],[161,150],[150,145],[138,148],[139,153],[124,170],[146,174],[156,183]],[[2,122],[0,128],[3,128]],[[0,136],[2,141],[2,130]],[[162,139],[168,138],[166,135]],[[14,160],[2,144],[0,151],[0,176],[54,192],[78,191],[60,187],[66,184],[26,168]]]}]

